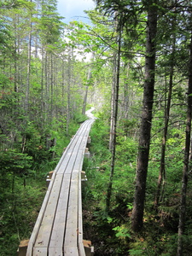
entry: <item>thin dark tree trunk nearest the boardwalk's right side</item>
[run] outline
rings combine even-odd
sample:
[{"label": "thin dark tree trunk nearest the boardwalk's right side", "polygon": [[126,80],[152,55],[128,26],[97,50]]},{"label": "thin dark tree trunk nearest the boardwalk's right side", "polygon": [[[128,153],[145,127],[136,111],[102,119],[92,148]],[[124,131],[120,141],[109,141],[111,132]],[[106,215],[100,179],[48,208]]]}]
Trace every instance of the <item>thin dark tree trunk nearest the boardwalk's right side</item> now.
[{"label": "thin dark tree trunk nearest the boardwalk's right side", "polygon": [[118,53],[117,53],[117,66],[116,66],[116,86],[114,88],[114,110],[113,110],[113,141],[111,144],[111,171],[108,183],[108,191],[106,197],[106,212],[109,211],[110,201],[112,195],[112,185],[113,185],[113,173],[114,173],[114,163],[115,163],[115,153],[116,153],[116,128],[117,128],[117,118],[118,118],[118,104],[119,104],[119,74],[120,74],[120,49],[121,49],[121,31],[119,31],[118,38]]}]

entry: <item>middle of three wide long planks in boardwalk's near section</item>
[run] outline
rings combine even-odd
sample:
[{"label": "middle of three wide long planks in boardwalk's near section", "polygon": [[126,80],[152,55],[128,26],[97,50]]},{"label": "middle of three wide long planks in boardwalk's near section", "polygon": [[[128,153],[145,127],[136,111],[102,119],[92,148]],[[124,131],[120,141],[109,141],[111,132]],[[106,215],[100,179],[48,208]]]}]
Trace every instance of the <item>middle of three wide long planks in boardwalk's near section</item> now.
[{"label": "middle of three wide long planks in boardwalk's near section", "polygon": [[58,206],[55,212],[55,222],[54,222],[52,234],[50,237],[49,247],[62,248],[63,246],[64,233],[66,228],[70,178],[71,178],[70,174],[64,174],[63,181],[61,184],[61,192],[59,195]]}]

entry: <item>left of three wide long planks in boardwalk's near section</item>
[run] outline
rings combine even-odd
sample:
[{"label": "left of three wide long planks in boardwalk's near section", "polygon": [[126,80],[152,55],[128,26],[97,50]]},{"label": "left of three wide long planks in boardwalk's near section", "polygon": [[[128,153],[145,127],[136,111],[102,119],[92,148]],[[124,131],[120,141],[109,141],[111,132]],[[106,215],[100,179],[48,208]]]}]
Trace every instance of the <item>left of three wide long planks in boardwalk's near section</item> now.
[{"label": "left of three wide long planks in boardwalk's near section", "polygon": [[55,177],[55,183],[49,196],[49,201],[44,212],[44,218],[42,219],[41,227],[38,230],[38,236],[35,241],[34,247],[48,247],[49,237],[52,230],[53,221],[55,218],[55,210],[58,201],[58,195],[61,189],[62,175],[57,174]]}]

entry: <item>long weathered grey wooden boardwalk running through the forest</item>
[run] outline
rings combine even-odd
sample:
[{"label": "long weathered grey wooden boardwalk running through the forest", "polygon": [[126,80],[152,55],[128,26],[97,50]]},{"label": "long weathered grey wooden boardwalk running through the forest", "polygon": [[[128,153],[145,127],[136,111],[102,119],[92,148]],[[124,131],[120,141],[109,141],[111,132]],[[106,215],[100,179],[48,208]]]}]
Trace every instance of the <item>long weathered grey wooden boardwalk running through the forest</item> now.
[{"label": "long weathered grey wooden boardwalk running through the forest", "polygon": [[81,172],[93,122],[94,119],[89,119],[80,126],[56,166],[26,256],[86,255],[83,245]]}]

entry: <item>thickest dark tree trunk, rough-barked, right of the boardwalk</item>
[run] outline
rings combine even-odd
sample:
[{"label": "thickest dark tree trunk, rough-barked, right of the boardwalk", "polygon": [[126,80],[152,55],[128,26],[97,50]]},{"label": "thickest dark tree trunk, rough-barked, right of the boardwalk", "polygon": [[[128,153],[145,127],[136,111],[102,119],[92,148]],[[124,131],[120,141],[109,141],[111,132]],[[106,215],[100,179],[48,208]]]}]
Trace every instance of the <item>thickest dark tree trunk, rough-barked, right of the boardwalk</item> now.
[{"label": "thickest dark tree trunk, rough-barked, right of the boardwalk", "polygon": [[154,101],[155,38],[157,29],[157,9],[155,3],[156,1],[152,1],[150,6],[148,6],[143,113],[138,146],[136,189],[131,216],[132,230],[136,232],[143,228],[143,211]]}]

